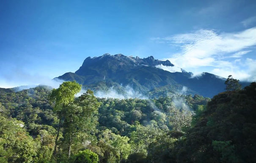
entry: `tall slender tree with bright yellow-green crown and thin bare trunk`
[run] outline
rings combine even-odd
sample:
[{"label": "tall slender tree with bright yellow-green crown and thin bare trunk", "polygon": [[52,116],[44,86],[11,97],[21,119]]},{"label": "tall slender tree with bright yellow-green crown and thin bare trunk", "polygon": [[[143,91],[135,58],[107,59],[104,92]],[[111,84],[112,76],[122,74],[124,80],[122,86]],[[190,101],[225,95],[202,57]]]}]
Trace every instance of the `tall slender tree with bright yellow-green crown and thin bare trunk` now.
[{"label": "tall slender tree with bright yellow-green crown and thin bare trunk", "polygon": [[60,134],[61,122],[63,119],[63,110],[74,101],[74,95],[80,92],[81,85],[75,81],[63,82],[58,89],[53,89],[50,95],[50,100],[55,102],[54,112],[57,113],[59,118],[58,131],[55,139],[54,155],[58,145],[58,137]]}]

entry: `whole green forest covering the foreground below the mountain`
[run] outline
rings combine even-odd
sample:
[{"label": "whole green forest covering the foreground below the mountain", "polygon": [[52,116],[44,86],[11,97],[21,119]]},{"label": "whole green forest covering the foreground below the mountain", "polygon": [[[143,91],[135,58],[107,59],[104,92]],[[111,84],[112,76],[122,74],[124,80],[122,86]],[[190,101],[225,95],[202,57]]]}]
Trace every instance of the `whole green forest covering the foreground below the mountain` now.
[{"label": "whole green forest covering the foreground below the mountain", "polygon": [[77,96],[82,86],[71,81],[0,88],[0,162],[256,162],[256,83],[226,85],[212,99]]}]

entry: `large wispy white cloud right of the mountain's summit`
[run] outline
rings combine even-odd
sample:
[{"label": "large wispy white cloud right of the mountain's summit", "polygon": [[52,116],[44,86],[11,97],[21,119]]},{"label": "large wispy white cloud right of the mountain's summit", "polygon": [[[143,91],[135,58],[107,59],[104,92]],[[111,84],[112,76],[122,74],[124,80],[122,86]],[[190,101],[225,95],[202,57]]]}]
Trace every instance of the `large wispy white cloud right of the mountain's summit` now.
[{"label": "large wispy white cloud right of the mountain's summit", "polygon": [[234,73],[232,74],[234,77],[244,80],[251,77],[246,68],[241,70],[241,66],[238,62],[232,61],[232,58],[242,58],[242,61],[245,61],[244,55],[253,51],[256,46],[256,27],[233,33],[200,29],[170,37],[158,37],[157,41],[165,41],[170,46],[179,47],[179,53],[167,58],[178,67],[184,69],[212,67],[212,73],[223,77],[226,77],[226,73]]}]

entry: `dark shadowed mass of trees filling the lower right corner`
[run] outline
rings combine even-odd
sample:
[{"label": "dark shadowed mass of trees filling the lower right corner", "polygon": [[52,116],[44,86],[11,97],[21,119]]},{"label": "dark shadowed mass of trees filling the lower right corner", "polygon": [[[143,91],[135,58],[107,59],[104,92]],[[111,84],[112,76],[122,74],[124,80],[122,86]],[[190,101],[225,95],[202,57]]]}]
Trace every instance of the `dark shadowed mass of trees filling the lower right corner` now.
[{"label": "dark shadowed mass of trees filling the lower right corner", "polygon": [[178,162],[256,162],[255,117],[256,83],[215,96],[174,150]]}]

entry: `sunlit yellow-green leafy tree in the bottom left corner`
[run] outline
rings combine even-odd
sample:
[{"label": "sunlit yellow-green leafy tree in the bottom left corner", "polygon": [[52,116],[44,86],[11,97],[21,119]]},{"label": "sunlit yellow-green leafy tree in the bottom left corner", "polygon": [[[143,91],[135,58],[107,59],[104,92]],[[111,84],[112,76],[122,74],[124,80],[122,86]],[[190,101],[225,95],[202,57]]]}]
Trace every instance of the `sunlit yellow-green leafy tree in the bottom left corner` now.
[{"label": "sunlit yellow-green leafy tree in the bottom left corner", "polygon": [[32,163],[37,160],[39,142],[33,140],[24,123],[0,116],[0,162]]}]

